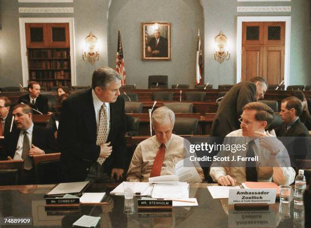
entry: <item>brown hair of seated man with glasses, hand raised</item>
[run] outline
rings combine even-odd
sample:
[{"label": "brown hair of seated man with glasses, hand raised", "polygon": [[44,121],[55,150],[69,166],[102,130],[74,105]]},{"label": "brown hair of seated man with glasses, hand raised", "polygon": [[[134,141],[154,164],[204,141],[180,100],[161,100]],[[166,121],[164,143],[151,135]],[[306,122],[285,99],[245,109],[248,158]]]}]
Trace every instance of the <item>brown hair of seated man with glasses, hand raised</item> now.
[{"label": "brown hair of seated man with glasses, hand raised", "polygon": [[244,110],[256,110],[255,119],[259,121],[267,121],[266,128],[272,123],[274,119],[273,110],[264,103],[251,102],[243,107]]}]

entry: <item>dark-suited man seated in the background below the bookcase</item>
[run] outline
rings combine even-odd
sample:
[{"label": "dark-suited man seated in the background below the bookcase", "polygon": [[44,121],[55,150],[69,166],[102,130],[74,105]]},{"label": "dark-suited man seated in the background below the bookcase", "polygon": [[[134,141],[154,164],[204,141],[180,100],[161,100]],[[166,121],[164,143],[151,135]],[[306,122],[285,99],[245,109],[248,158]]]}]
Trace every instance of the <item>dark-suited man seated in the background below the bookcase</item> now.
[{"label": "dark-suited man seated in the background below the bookcase", "polygon": [[[40,94],[40,88],[39,82],[30,81],[28,83],[29,94],[19,97],[18,103],[30,105],[34,110],[47,114],[48,99]],[[34,111],[34,114],[40,114],[39,112]]]}]

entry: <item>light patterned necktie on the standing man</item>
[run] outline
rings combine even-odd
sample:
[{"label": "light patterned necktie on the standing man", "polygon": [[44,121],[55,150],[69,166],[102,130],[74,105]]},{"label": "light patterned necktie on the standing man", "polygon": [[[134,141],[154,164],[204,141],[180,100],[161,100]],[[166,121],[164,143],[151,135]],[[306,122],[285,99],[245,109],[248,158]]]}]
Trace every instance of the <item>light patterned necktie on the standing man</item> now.
[{"label": "light patterned necktie on the standing man", "polygon": [[[106,143],[107,138],[108,138],[108,117],[106,113],[106,105],[103,104],[100,109],[96,145],[101,145],[102,143]],[[104,157],[99,157],[97,158],[97,162],[100,165],[103,165],[105,159],[106,158]]]}]

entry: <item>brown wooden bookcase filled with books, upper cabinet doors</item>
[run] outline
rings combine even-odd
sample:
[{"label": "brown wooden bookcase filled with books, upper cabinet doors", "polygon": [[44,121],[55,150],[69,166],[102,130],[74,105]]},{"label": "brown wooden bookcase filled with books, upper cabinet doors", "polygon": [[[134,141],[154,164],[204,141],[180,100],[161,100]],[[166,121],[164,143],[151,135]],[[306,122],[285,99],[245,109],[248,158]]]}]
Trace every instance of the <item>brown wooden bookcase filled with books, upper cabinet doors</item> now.
[{"label": "brown wooden bookcase filled with books, upper cabinet doors", "polygon": [[26,45],[29,81],[42,90],[64,85],[71,88],[68,23],[27,23]]}]

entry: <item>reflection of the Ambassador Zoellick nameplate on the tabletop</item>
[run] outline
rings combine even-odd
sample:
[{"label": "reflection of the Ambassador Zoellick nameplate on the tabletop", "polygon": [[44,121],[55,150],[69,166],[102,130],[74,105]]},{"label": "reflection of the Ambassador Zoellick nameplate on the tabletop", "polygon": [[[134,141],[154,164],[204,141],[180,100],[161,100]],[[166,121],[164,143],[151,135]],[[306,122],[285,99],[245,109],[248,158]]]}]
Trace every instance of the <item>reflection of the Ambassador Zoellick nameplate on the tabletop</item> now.
[{"label": "reflection of the Ambassador Zoellick nameplate on the tabletop", "polygon": [[268,211],[236,211],[229,210],[228,227],[276,227],[275,213]]}]

